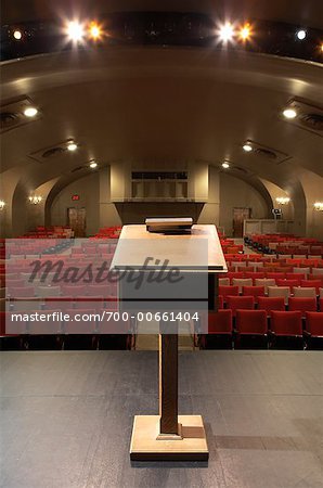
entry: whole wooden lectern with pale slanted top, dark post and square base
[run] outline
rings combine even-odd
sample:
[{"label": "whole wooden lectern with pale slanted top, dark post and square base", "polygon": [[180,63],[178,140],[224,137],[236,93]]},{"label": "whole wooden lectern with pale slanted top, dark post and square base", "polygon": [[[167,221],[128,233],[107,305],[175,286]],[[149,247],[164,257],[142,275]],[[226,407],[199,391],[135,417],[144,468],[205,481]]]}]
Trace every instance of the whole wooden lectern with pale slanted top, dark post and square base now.
[{"label": "whole wooden lectern with pale slanted top, dark post and square base", "polygon": [[[183,281],[178,285],[145,283],[145,277],[162,268],[163,272],[176,269]],[[215,310],[218,273],[225,272],[227,265],[215,226],[193,226],[190,233],[176,235],[152,234],[145,226],[124,226],[111,269],[126,277],[126,280],[119,280],[119,300],[124,310],[127,307],[131,311],[158,310],[158,307],[175,310],[177,303],[181,307],[183,304],[191,307],[191,310],[194,304],[204,303],[206,309]],[[127,273],[132,278],[137,273],[143,279],[141,290],[131,284],[133,280],[129,286]],[[197,287],[192,286],[195,282]],[[202,416],[178,415],[178,330],[164,321],[159,328],[159,415],[135,415],[130,458],[141,461],[207,460]]]}]

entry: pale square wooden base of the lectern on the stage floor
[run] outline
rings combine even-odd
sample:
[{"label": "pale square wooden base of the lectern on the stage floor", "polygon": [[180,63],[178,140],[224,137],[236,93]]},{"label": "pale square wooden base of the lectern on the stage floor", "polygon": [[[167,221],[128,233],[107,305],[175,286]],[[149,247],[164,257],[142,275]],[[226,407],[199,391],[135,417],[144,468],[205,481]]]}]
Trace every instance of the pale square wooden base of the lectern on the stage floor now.
[{"label": "pale square wooden base of the lectern on the stage floor", "polygon": [[[179,415],[182,438],[159,435],[159,415],[135,415],[130,459],[132,461],[207,461],[208,449],[201,415]],[[157,438],[158,437],[158,438]]]}]

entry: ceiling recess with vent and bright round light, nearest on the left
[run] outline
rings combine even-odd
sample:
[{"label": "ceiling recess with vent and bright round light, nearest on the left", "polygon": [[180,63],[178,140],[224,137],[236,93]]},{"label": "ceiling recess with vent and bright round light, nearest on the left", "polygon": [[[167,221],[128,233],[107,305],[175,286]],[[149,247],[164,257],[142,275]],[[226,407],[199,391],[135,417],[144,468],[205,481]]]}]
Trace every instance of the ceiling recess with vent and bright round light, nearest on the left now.
[{"label": "ceiling recess with vent and bright round light, nearest on the left", "polygon": [[34,105],[27,97],[15,99],[12,102],[4,102],[0,106],[0,133],[38,120],[40,117],[39,113],[35,117],[26,117],[24,114],[26,108]]}]

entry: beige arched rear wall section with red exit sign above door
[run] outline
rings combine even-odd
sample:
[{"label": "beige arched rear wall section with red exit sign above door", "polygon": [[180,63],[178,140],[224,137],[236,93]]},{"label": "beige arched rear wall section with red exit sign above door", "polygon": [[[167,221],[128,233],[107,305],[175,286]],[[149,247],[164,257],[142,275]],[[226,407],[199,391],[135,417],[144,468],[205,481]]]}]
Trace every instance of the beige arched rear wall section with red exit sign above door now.
[{"label": "beige arched rear wall section with red exit sign above door", "polygon": [[[78,194],[78,202],[72,201],[72,195]],[[62,190],[53,201],[51,208],[51,224],[67,223],[67,208],[86,208],[87,235],[92,235],[99,229],[99,174],[81,178]]]}]

